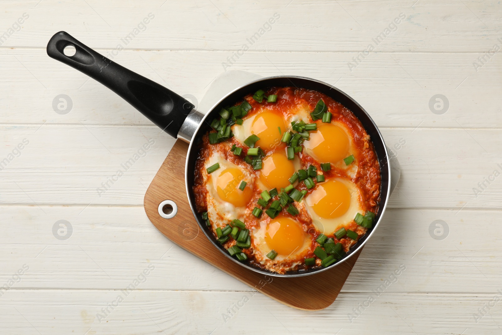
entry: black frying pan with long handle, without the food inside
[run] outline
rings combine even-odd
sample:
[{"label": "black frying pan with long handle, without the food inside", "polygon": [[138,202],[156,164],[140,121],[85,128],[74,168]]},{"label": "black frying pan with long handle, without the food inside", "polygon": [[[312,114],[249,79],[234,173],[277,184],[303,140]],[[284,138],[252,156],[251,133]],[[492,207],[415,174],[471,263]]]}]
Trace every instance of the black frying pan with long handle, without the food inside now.
[{"label": "black frying pan with long handle, without the food inside", "polygon": [[[75,47],[76,52],[73,56],[66,56],[64,54],[63,50],[67,46]],[[214,246],[233,262],[236,262],[253,271],[268,275],[281,277],[307,276],[328,270],[347,260],[362,248],[366,241],[373,235],[376,227],[379,226],[391,194],[390,157],[388,155],[384,139],[382,138],[382,134],[374,124],[373,120],[371,120],[366,111],[354,99],[338,88],[322,81],[306,77],[267,77],[235,88],[232,92],[220,99],[209,110],[209,113],[204,115],[197,111],[191,102],[187,101],[180,95],[98,54],[96,51],[80,43],[66,32],[56,33],[50,39],[47,44],[47,54],[50,57],[70,65],[71,67],[87,74],[89,77],[99,81],[101,84],[108,87],[133,105],[143,115],[150,119],[150,121],[163,129],[170,136],[181,139],[190,144],[185,164],[185,186],[190,206],[195,218],[197,219],[199,228],[204,232]],[[311,268],[308,270],[287,272],[286,274],[281,275],[258,268],[248,263],[239,262],[231,257],[223,246],[217,243],[212,232],[210,232],[206,227],[201,214],[197,213],[194,209],[195,198],[192,186],[194,183],[193,176],[195,171],[195,162],[198,157],[199,144],[202,141],[202,136],[210,129],[210,123],[207,120],[218,118],[218,111],[221,110],[223,106],[233,105],[235,102],[242,100],[244,95],[254,93],[258,89],[270,86],[293,86],[313,89],[324,93],[343,104],[359,119],[367,134],[371,137],[376,156],[378,157],[380,163],[382,178],[380,190],[381,200],[379,204],[379,211],[376,213],[375,225],[369,229],[366,235],[360,238],[354,246],[352,246],[352,248],[340,261],[327,268]]]}]

